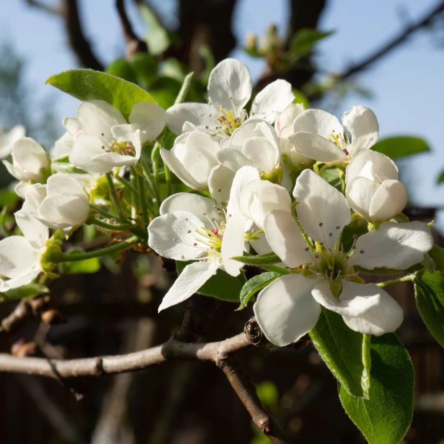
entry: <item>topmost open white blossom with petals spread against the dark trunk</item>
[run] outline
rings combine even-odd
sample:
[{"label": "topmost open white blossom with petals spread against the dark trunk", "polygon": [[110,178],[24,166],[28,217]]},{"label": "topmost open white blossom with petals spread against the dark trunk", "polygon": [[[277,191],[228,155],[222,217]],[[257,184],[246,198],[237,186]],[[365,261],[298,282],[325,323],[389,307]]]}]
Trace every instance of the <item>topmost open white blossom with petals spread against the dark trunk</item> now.
[{"label": "topmost open white blossom with petals spread against the dark trunk", "polygon": [[248,68],[234,58],[223,60],[210,73],[209,103],[181,103],[166,111],[166,124],[175,134],[181,134],[189,122],[198,130],[229,136],[249,118],[273,123],[276,112],[283,111],[294,99],[291,85],[275,80],[265,86],[254,98],[250,115],[244,109],[253,90]]}]

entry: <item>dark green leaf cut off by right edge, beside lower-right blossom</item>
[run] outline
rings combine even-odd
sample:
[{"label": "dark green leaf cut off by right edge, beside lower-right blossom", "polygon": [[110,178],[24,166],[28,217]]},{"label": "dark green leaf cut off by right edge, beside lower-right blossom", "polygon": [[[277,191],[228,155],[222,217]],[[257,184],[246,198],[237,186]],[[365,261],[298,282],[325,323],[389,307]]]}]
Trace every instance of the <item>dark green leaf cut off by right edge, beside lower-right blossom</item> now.
[{"label": "dark green leaf cut off by right edge, beside lower-right blossom", "polygon": [[444,347],[444,273],[424,270],[414,282],[418,311],[430,333]]}]

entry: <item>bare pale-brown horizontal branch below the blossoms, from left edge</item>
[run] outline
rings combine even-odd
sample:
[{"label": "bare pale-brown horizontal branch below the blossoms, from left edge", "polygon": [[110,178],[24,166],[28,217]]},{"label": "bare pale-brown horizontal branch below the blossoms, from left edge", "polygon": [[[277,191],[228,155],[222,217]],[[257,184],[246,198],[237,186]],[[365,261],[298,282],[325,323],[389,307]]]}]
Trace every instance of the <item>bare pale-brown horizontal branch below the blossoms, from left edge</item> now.
[{"label": "bare pale-brown horizontal branch below the blossoms, from left edge", "polygon": [[250,347],[252,344],[244,333],[208,343],[185,343],[170,339],[162,345],[134,353],[96,358],[71,360],[45,358],[16,358],[0,353],[0,372],[36,374],[55,379],[100,376],[141,370],[171,360],[200,360],[216,364],[228,354]]}]

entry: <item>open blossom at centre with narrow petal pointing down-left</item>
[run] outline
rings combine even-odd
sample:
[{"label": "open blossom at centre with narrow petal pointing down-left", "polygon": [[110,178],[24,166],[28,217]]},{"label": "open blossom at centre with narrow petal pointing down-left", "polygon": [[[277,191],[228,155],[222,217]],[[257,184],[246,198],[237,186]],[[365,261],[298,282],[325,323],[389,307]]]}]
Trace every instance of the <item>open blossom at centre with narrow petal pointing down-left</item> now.
[{"label": "open blossom at centre with narrow petal pointing down-left", "polygon": [[226,210],[208,197],[178,193],[167,198],[160,216],[148,226],[148,245],[163,257],[188,264],[168,290],[159,311],[188,299],[217,270],[238,276],[243,264],[231,259],[244,251],[246,219],[239,212],[239,195],[255,169],[235,178]]}]

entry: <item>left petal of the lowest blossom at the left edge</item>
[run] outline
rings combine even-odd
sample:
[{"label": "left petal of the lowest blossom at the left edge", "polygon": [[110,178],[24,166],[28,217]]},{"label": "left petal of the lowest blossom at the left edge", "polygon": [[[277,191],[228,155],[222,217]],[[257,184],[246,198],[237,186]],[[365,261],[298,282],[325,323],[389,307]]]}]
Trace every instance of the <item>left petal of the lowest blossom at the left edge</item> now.
[{"label": "left petal of the lowest blossom at the left edge", "polygon": [[20,278],[40,267],[40,252],[23,236],[9,236],[0,241],[0,274]]}]

